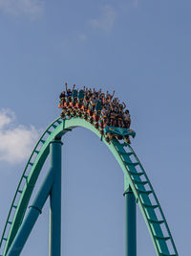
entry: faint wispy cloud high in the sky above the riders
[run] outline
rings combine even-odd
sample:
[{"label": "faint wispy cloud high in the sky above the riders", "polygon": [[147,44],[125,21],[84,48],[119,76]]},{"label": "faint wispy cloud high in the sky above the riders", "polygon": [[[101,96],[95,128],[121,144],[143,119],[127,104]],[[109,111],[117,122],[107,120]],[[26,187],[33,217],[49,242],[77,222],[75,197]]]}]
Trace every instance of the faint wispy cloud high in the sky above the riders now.
[{"label": "faint wispy cloud high in the sky above the riders", "polygon": [[93,28],[98,30],[103,30],[106,32],[110,32],[116,20],[116,11],[111,6],[104,6],[101,9],[101,14],[99,17],[91,19],[90,23]]}]

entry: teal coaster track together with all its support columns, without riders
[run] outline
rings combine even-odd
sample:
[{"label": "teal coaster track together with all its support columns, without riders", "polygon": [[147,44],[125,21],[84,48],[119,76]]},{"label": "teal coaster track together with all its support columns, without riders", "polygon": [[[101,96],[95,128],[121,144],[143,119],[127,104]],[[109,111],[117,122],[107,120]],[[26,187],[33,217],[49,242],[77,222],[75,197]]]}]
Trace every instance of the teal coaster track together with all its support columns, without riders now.
[{"label": "teal coaster track together with all its support columns, without riders", "polygon": [[[50,198],[50,256],[61,255],[61,138],[74,128],[93,131],[116,158],[124,174],[125,256],[137,256],[137,204],[146,222],[158,256],[178,256],[167,221],[136,152],[130,143],[112,136],[110,140],[87,118],[61,115],[44,131],[35,145],[20,178],[0,241],[0,256],[20,255],[35,221]],[[134,132],[127,133],[134,136]],[[121,139],[119,137],[119,139]],[[51,167],[29,205],[42,167],[51,156]],[[29,207],[29,210],[27,208]]]}]

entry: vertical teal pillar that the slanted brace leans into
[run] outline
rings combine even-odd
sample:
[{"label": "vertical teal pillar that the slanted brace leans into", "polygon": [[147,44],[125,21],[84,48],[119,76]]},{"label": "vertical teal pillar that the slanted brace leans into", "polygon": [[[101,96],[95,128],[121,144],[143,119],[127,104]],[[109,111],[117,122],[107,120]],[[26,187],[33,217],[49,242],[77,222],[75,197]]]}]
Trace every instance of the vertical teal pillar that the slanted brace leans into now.
[{"label": "vertical teal pillar that the slanted brace leans into", "polygon": [[50,194],[50,256],[61,255],[61,145],[61,141],[51,143],[54,176]]}]

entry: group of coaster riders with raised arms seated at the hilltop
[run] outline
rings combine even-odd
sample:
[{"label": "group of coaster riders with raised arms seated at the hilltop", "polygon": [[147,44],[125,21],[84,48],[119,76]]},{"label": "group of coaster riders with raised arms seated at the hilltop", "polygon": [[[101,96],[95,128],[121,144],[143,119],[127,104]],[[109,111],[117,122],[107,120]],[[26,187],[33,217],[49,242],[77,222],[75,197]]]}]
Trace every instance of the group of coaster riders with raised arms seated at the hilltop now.
[{"label": "group of coaster riders with raised arms seated at the hilltop", "polygon": [[81,117],[103,133],[105,127],[130,128],[131,118],[129,110],[125,109],[126,105],[120,103],[118,98],[113,94],[103,93],[101,89],[96,91],[91,88],[83,89],[68,88],[65,83],[65,90],[60,94],[58,107],[62,108],[61,117]]}]

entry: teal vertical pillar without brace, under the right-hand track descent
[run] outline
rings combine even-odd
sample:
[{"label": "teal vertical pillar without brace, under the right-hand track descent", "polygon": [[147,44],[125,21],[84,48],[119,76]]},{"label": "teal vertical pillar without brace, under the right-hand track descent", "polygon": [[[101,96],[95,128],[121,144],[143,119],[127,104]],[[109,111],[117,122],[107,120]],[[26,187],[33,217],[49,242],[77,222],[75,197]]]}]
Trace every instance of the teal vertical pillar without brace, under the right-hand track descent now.
[{"label": "teal vertical pillar without brace, under the right-hand track descent", "polygon": [[125,256],[137,256],[137,209],[131,188],[125,196]]}]

